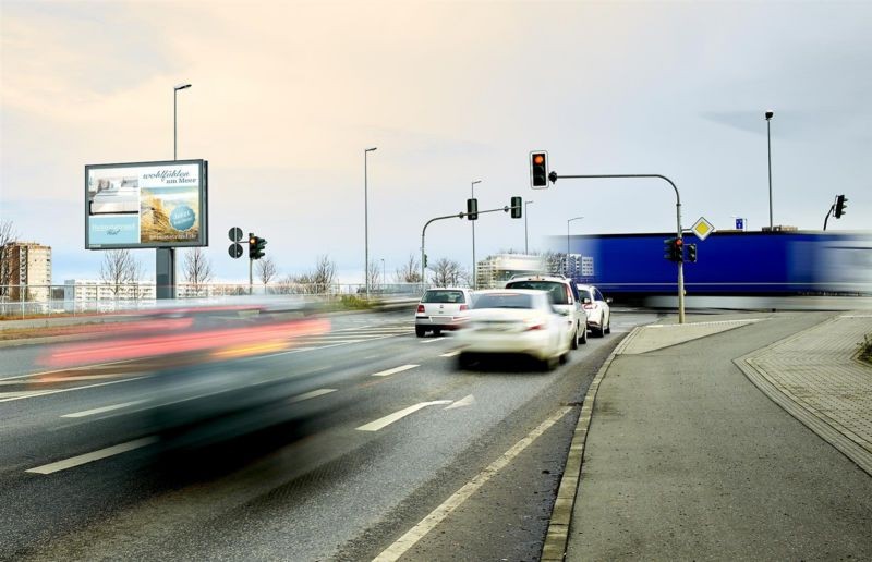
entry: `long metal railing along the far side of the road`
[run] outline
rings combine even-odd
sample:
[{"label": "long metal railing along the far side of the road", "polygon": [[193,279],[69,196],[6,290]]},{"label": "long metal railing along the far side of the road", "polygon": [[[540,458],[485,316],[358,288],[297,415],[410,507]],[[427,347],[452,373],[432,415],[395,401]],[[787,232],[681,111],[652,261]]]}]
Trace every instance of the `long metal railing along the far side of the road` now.
[{"label": "long metal railing along the far side of the road", "polygon": [[[368,298],[416,297],[424,289],[426,286],[421,283],[371,285]],[[155,295],[156,286],[153,283],[0,285],[0,318],[147,310],[157,306]],[[319,301],[367,298],[366,288],[362,283],[272,283],[251,286],[241,283],[180,283],[175,286],[175,295],[177,301],[205,303],[245,297],[280,298],[282,295],[306,295]]]}]

